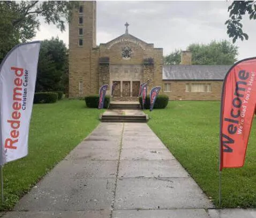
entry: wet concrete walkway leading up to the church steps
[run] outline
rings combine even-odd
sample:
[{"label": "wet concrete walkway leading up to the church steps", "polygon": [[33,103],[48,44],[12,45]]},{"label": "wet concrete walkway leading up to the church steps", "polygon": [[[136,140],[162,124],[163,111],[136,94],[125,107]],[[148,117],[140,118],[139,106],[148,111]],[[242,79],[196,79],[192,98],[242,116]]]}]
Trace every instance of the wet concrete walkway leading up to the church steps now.
[{"label": "wet concrete walkway leading up to the church steps", "polygon": [[3,217],[256,217],[213,207],[146,123],[101,123]]}]

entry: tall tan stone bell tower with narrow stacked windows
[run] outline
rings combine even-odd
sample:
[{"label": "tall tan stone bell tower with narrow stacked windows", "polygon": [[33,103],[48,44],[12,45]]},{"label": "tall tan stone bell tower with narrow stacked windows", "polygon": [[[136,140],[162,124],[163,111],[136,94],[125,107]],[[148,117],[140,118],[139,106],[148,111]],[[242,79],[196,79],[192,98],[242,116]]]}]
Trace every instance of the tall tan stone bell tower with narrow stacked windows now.
[{"label": "tall tan stone bell tower with narrow stacked windows", "polygon": [[[96,47],[96,1],[79,1],[69,23],[69,97],[91,89],[91,52]],[[86,93],[87,92],[87,93]]]}]

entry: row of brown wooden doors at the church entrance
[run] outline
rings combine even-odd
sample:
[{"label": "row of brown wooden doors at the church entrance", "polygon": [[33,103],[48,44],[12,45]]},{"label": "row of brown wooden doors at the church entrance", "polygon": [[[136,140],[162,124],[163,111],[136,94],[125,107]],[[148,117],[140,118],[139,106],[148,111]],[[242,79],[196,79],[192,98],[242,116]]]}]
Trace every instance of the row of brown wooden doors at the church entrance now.
[{"label": "row of brown wooden doors at the church entrance", "polygon": [[[113,96],[121,97],[121,81],[113,81],[116,83]],[[131,85],[132,85],[132,97],[139,96],[140,81],[122,81],[122,96],[131,97]]]}]

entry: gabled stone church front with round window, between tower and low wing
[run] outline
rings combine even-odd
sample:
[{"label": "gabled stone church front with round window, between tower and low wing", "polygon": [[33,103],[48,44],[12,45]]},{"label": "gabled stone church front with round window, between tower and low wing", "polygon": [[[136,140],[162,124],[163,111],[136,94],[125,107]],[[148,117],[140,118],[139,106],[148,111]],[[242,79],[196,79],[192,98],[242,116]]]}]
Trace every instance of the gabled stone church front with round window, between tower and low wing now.
[{"label": "gabled stone church front with round window, between tower and low wing", "polygon": [[[122,51],[126,48],[130,51],[129,57],[122,56]],[[100,59],[109,58],[108,84],[111,87],[113,82],[120,82],[120,96],[115,96],[118,99],[137,97],[133,95],[135,88],[139,91],[137,82],[147,82],[149,90],[156,85],[162,85],[163,49],[155,49],[153,44],[126,33],[106,44],[100,44],[99,50]],[[124,86],[130,91],[125,90]],[[127,92],[130,92],[130,96],[127,96]],[[107,94],[110,94],[110,89]]]}]

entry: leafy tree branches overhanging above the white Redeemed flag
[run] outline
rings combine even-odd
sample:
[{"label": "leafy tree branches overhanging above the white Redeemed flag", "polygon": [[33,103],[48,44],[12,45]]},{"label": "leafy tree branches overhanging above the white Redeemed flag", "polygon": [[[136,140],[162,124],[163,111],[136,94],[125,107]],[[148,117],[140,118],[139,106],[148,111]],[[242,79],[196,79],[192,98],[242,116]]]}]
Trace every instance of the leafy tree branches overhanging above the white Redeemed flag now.
[{"label": "leafy tree branches overhanging above the white Redeemed flag", "polygon": [[0,1],[0,62],[14,45],[35,37],[40,16],[64,31],[76,6],[75,1]]}]

